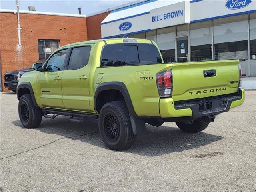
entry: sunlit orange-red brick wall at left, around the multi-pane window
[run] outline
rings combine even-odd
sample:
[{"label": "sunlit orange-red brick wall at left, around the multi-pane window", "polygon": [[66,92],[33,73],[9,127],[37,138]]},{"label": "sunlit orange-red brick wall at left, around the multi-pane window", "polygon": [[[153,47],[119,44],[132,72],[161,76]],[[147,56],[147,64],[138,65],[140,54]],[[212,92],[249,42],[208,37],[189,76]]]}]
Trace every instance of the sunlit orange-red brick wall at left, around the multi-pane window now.
[{"label": "sunlit orange-red brick wall at left, around the multi-pane window", "polygon": [[[86,18],[20,13],[21,44],[18,46],[17,14],[0,12],[0,68],[4,73],[27,68],[38,60],[38,39],[57,39],[60,46],[86,41]],[[66,30],[64,30],[66,28]]]}]

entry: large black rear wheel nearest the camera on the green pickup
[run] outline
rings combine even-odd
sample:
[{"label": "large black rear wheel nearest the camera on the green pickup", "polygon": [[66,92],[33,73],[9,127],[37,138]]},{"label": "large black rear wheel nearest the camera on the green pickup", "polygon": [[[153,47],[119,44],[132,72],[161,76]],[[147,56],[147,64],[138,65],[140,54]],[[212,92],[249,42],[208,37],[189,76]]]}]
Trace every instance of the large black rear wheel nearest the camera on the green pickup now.
[{"label": "large black rear wheel nearest the camera on the green pickup", "polygon": [[100,110],[99,132],[103,142],[112,150],[132,146],[136,135],[132,132],[130,116],[122,101],[106,103]]}]

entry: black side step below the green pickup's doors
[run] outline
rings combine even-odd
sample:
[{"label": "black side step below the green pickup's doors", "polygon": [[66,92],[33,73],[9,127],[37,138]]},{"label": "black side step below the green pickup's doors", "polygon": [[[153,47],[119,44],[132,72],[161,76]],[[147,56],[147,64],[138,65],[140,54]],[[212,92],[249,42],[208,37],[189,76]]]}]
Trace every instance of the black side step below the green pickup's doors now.
[{"label": "black side step below the green pickup's doors", "polygon": [[[85,113],[76,113],[72,111],[64,111],[64,110],[53,110],[53,109],[42,109],[42,112],[44,112],[45,118],[51,118],[54,119],[58,115],[64,115],[64,116],[70,116],[69,120],[72,122],[83,122],[84,120],[93,120],[97,119],[98,115],[94,114],[85,114]],[[53,114],[53,115],[50,115]]]}]

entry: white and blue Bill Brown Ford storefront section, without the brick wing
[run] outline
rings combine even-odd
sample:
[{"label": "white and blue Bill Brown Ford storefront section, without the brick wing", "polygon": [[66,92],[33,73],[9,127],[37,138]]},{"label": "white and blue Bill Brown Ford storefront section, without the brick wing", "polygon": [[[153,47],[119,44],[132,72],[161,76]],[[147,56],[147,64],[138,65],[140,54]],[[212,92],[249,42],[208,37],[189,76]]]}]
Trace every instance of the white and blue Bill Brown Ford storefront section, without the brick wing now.
[{"label": "white and blue Bill Brown Ford storefront section, without the brick wing", "polygon": [[165,62],[239,59],[256,88],[256,0],[149,0],[110,12],[101,35],[153,40]]}]

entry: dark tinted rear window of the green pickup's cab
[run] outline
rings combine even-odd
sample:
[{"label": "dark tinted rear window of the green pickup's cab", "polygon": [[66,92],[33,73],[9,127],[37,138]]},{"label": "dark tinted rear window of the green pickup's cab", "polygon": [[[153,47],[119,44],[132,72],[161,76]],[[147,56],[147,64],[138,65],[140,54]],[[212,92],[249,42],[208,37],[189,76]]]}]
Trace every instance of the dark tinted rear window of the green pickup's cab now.
[{"label": "dark tinted rear window of the green pickup's cab", "polygon": [[153,44],[126,43],[105,45],[100,66],[123,66],[162,63]]}]

